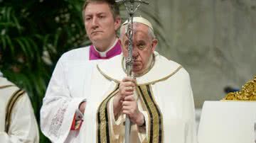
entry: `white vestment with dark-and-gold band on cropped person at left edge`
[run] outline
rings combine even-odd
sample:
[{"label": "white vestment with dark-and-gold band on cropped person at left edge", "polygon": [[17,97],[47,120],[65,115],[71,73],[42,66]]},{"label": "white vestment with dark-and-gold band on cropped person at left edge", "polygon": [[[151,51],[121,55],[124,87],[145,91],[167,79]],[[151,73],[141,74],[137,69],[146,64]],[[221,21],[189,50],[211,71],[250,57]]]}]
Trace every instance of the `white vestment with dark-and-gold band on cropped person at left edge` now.
[{"label": "white vestment with dark-and-gold band on cropped person at left edge", "polygon": [[38,143],[38,125],[25,91],[0,77],[0,142]]}]

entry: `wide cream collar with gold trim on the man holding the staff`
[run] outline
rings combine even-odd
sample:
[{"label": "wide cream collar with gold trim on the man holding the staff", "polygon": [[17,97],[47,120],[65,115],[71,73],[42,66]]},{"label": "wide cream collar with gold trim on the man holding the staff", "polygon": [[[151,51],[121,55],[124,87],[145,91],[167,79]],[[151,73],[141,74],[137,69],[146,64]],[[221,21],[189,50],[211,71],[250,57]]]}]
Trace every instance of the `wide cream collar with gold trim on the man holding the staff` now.
[{"label": "wide cream collar with gold trim on the man holding the staff", "polygon": [[[136,78],[139,86],[169,79],[182,68],[180,64],[166,59],[166,57],[159,55],[158,52],[154,52],[154,57],[154,66],[146,74]],[[97,64],[97,69],[107,79],[116,82],[122,81],[127,76],[122,69],[122,58],[123,55],[118,55],[107,62],[101,62]]]}]

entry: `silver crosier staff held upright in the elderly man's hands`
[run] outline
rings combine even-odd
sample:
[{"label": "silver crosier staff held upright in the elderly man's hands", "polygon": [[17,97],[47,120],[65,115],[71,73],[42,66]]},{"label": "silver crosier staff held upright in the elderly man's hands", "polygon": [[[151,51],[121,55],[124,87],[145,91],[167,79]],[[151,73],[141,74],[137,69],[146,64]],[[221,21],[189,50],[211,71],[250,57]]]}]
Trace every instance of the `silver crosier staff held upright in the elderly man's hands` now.
[{"label": "silver crosier staff held upright in the elderly man's hands", "polygon": [[[141,4],[149,4],[149,2],[142,1],[142,0],[116,0],[116,2],[122,2],[128,13],[126,35],[129,40],[129,45],[128,45],[128,57],[125,59],[125,68],[127,71],[127,76],[132,77],[133,17],[134,17],[135,11],[137,11],[137,9]],[[130,130],[131,130],[131,121],[129,120],[129,116],[127,115],[125,118],[125,143],[129,143]]]}]

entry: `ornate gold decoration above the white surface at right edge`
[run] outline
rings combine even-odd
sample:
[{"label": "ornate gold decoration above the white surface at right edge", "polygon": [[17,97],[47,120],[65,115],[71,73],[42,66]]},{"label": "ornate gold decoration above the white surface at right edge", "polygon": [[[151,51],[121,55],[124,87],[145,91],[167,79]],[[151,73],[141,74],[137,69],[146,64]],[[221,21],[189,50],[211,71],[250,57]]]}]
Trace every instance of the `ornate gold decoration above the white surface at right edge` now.
[{"label": "ornate gold decoration above the white surface at right edge", "polygon": [[228,101],[256,101],[256,76],[242,86],[241,91],[228,93],[223,100]]}]

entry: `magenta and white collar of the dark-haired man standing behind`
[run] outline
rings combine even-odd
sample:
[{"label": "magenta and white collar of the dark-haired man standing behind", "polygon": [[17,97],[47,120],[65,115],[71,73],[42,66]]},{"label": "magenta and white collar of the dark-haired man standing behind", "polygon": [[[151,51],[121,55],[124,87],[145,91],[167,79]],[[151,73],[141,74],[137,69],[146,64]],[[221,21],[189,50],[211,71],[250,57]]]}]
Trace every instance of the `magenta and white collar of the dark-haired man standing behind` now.
[{"label": "magenta and white collar of the dark-haired man standing behind", "polygon": [[108,48],[105,52],[98,51],[94,45],[90,45],[90,60],[93,59],[110,59],[116,55],[121,54],[121,42],[118,38],[114,41],[114,44]]}]

